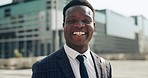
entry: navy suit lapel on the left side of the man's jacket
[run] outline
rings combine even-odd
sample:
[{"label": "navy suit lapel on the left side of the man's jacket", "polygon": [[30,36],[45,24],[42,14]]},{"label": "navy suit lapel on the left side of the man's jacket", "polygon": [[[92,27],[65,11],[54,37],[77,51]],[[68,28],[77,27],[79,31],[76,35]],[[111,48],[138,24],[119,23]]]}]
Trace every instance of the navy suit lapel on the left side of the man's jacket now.
[{"label": "navy suit lapel on the left side of the man's jacket", "polygon": [[59,53],[57,53],[57,56],[59,57],[59,65],[60,68],[62,70],[62,72],[64,73],[66,78],[75,78],[73,70],[71,68],[70,62],[68,60],[68,57],[65,53],[64,48],[62,48]]}]

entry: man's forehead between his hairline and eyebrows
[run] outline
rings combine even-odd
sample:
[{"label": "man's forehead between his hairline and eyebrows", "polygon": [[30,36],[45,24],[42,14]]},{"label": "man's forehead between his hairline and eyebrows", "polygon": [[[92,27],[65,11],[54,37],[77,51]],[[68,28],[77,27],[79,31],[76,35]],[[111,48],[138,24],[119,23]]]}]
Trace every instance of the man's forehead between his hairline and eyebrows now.
[{"label": "man's forehead between his hairline and eyebrows", "polygon": [[83,12],[83,13],[88,13],[89,15],[93,15],[93,11],[89,7],[82,5],[72,6],[68,8],[65,14],[69,15],[74,12]]}]

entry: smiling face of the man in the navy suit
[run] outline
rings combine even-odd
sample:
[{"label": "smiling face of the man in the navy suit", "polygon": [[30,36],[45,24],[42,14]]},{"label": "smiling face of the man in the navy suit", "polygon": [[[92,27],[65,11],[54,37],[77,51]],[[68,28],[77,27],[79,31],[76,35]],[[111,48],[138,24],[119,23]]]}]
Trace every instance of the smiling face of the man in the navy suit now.
[{"label": "smiling face of the man in the navy suit", "polygon": [[94,30],[93,12],[86,6],[73,6],[65,13],[64,36],[66,44],[73,47],[88,46]]}]

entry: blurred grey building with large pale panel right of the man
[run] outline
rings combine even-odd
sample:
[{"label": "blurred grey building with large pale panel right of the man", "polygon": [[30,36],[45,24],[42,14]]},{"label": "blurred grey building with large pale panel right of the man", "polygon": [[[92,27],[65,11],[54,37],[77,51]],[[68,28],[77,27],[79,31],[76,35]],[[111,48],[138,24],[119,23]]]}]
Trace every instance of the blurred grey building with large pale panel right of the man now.
[{"label": "blurred grey building with large pale panel right of the man", "polygon": [[[110,10],[96,11],[93,48],[102,53],[144,53],[148,20],[143,16],[125,17]],[[145,32],[144,32],[145,30]],[[144,51],[145,50],[145,51]]]}]

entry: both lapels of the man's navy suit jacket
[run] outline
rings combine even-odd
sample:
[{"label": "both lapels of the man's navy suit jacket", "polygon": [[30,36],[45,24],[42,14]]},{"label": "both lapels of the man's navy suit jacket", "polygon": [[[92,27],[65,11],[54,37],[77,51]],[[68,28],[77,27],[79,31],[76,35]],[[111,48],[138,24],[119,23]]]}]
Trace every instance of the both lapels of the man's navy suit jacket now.
[{"label": "both lapels of the man's navy suit jacket", "polygon": [[[56,54],[56,56],[59,58],[58,63],[60,65],[62,72],[65,75],[65,78],[75,78],[73,70],[72,70],[70,62],[69,62],[69,59],[68,59],[66,52],[64,50],[64,47],[62,47],[57,52],[58,53]],[[91,56],[93,58],[94,65],[96,67],[96,69],[95,69],[97,71],[96,74],[98,74],[98,78],[101,78],[101,73],[102,73],[101,59],[97,54],[95,54],[93,52],[91,52]]]}]

